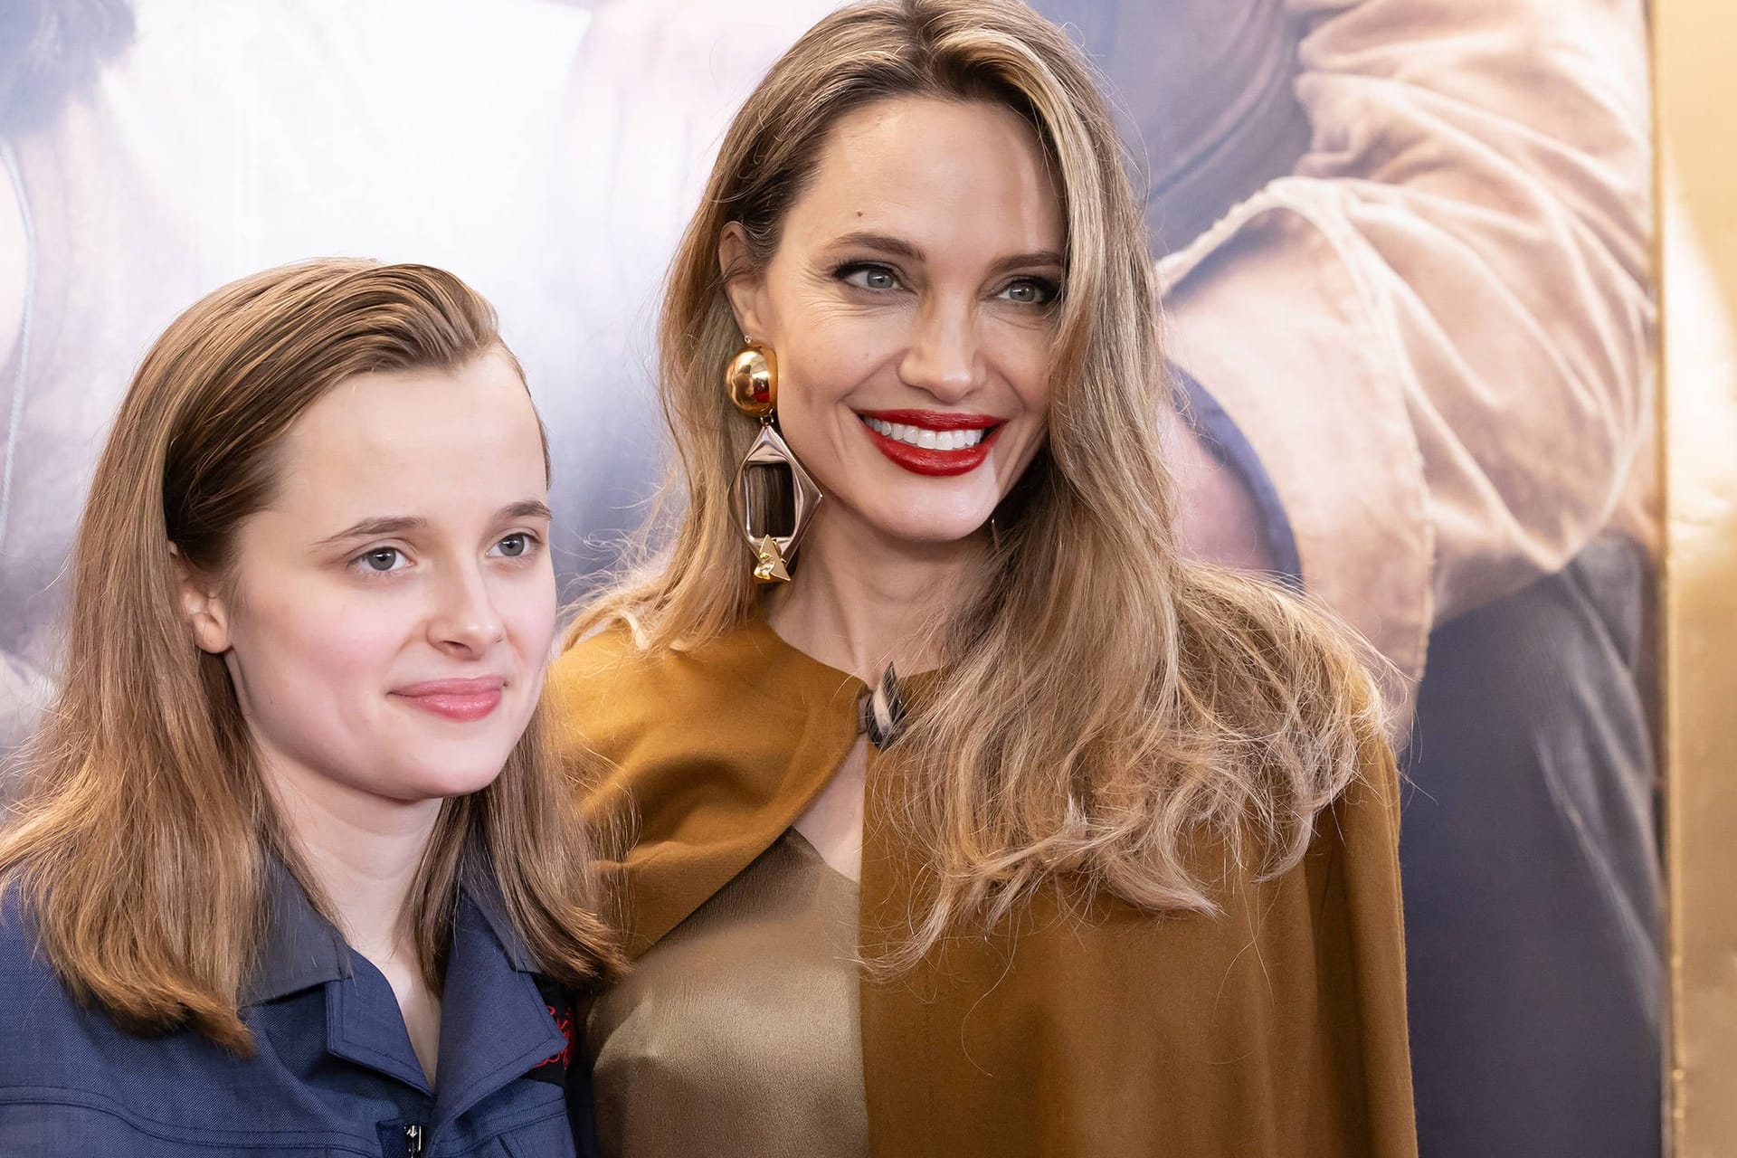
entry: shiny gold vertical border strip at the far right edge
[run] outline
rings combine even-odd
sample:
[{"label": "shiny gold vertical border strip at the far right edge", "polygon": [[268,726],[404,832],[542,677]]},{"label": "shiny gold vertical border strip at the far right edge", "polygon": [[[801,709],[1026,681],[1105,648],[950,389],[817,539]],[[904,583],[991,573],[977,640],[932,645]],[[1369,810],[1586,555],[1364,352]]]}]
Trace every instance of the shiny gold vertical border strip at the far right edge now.
[{"label": "shiny gold vertical border strip at the far right edge", "polygon": [[1654,7],[1671,1135],[1737,1155],[1737,5]]}]

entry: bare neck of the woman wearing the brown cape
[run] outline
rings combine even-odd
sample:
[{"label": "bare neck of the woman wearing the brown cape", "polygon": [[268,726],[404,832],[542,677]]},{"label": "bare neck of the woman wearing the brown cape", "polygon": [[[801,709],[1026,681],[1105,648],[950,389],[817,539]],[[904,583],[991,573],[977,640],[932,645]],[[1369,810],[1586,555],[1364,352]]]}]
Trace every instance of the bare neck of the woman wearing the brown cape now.
[{"label": "bare neck of the woman wearing the brown cape", "polygon": [[822,509],[766,618],[785,642],[865,682],[888,663],[926,672],[941,665],[936,628],[964,597],[985,542],[893,540],[851,510]]}]

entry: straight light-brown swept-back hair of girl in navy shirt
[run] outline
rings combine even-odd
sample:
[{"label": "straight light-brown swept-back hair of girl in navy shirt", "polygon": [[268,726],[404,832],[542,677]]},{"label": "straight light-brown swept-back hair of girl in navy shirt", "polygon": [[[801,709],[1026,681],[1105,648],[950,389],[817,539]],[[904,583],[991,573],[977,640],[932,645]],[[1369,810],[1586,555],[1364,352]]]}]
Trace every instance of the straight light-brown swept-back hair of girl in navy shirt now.
[{"label": "straight light-brown swept-back hair of girl in navy shirt", "polygon": [[[0,878],[49,960],[123,1028],[191,1026],[250,1049],[238,1000],[267,854],[332,917],[261,780],[222,656],[195,648],[181,616],[170,545],[221,576],[309,405],[356,373],[455,370],[497,347],[493,311],[452,274],[330,259],[210,293],[139,366],[73,547],[64,686],[0,835]],[[617,960],[540,717],[499,780],[441,807],[405,913],[431,984],[474,852],[549,974],[578,984]]]}]

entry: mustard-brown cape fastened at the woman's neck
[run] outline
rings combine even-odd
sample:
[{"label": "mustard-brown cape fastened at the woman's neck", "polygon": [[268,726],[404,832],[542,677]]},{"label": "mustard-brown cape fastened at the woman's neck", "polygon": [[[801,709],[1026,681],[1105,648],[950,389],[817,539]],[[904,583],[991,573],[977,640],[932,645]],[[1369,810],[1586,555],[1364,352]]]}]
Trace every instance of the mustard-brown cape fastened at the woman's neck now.
[{"label": "mustard-brown cape fastened at the woman's neck", "polygon": [[[658,656],[610,630],[556,661],[565,743],[613,767],[591,807],[636,821],[617,866],[631,951],[785,835],[855,741],[862,693],[757,618]],[[907,924],[921,880],[886,821],[896,766],[896,750],[870,750],[862,946]],[[1063,880],[1009,929],[952,939],[893,979],[860,977],[870,1153],[1414,1158],[1386,745],[1365,747],[1301,865],[1226,880],[1216,899],[1218,915],[1153,915],[1103,894],[1079,911]],[[738,1075],[710,1076],[714,1102],[742,1095]]]}]

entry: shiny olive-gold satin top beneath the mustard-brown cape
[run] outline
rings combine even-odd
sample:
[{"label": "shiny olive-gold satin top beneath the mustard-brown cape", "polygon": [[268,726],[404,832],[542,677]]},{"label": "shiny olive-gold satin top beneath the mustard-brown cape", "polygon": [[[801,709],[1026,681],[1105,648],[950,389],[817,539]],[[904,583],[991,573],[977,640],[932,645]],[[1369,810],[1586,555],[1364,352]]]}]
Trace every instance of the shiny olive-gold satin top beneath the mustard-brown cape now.
[{"label": "shiny olive-gold satin top beneath the mustard-brown cape", "polygon": [[615,1158],[867,1158],[856,882],[794,828],[585,1019]]}]

